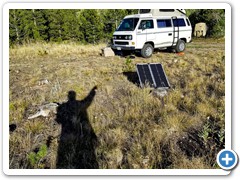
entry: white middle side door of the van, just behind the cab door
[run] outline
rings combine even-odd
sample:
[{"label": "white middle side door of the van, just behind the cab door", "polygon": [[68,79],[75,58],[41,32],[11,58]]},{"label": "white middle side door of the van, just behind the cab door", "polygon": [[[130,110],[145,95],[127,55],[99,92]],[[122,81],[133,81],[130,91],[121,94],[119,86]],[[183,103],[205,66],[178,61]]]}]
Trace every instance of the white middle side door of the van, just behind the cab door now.
[{"label": "white middle side door of the van, just behind the cab door", "polygon": [[156,47],[170,47],[173,43],[173,27],[172,20],[157,19],[156,28]]}]

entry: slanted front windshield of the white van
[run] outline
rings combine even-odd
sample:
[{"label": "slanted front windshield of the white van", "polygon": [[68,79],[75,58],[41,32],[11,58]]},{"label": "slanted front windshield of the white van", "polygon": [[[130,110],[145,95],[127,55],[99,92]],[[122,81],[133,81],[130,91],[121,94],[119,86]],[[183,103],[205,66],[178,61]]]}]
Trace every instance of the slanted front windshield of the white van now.
[{"label": "slanted front windshield of the white van", "polygon": [[138,21],[139,18],[123,19],[116,31],[133,31],[136,28]]}]

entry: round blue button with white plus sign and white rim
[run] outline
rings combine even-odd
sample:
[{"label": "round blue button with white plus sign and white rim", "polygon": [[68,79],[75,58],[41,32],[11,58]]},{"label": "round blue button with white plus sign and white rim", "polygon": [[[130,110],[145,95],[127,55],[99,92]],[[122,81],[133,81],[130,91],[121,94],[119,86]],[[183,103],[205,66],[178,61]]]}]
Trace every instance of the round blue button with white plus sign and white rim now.
[{"label": "round blue button with white plus sign and white rim", "polygon": [[224,170],[230,170],[237,164],[238,156],[233,150],[221,150],[217,155],[217,163]]}]

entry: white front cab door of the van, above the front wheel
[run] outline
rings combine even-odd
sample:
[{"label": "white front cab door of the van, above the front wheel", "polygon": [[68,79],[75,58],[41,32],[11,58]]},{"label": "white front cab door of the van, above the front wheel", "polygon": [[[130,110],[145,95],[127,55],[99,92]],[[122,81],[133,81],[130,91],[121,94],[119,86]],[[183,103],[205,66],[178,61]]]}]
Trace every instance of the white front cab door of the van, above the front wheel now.
[{"label": "white front cab door of the van, above the front wheel", "polygon": [[148,41],[155,43],[156,35],[154,30],[153,19],[141,20],[137,29],[136,48],[142,49]]}]

